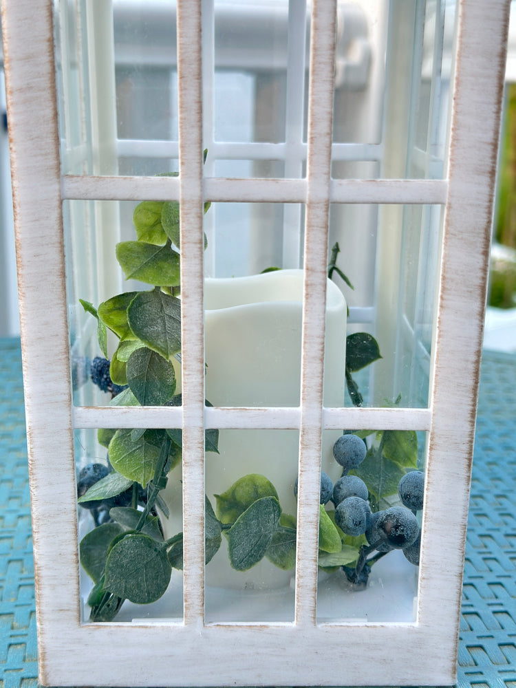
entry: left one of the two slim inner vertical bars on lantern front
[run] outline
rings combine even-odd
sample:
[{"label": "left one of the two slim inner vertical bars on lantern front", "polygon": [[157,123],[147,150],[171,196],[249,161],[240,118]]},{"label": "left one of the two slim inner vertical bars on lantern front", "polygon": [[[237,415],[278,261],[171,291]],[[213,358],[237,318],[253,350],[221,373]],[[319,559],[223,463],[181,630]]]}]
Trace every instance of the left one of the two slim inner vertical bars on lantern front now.
[{"label": "left one of the two slim inner vertical bars on lantern front", "polygon": [[201,1],[178,0],[184,623],[204,617]]}]

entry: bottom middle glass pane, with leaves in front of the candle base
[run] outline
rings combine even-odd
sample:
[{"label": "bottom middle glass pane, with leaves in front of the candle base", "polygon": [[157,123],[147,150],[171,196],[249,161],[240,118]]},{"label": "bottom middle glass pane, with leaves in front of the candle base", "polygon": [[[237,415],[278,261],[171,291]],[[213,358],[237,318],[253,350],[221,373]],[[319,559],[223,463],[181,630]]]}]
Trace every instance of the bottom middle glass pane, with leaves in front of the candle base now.
[{"label": "bottom middle glass pane, with leaves in front of the candle base", "polygon": [[293,621],[299,433],[221,430],[219,451],[205,464],[206,495],[224,524],[206,566],[206,621]]}]

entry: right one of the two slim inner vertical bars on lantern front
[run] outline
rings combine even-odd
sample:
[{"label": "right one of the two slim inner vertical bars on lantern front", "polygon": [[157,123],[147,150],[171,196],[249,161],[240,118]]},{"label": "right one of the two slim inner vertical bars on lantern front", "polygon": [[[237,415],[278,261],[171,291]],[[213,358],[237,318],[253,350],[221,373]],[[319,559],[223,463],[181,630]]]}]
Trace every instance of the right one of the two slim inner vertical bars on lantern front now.
[{"label": "right one of the two slim inner vertical bars on lantern front", "polygon": [[334,91],[336,0],[314,0],[310,34],[307,207],[297,502],[297,625],[316,618],[326,265]]}]

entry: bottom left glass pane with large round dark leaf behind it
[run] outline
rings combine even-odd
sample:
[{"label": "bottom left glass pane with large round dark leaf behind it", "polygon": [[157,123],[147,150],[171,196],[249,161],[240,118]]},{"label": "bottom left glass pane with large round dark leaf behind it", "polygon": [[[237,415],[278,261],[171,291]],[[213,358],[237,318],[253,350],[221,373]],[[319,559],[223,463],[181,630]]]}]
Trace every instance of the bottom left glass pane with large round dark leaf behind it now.
[{"label": "bottom left glass pane with large round dark leaf behind it", "polygon": [[182,623],[182,546],[164,542],[182,530],[181,499],[149,483],[180,463],[177,445],[166,430],[101,429],[76,430],[75,447],[82,620]]}]

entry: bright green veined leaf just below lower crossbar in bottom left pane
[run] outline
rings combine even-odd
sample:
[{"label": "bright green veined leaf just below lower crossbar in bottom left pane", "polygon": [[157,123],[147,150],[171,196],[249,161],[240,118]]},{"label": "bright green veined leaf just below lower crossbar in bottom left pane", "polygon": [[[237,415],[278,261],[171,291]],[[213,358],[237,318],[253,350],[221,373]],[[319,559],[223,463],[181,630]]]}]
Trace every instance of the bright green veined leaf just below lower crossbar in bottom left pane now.
[{"label": "bright green veined leaf just below lower crossbar in bottom left pane", "polygon": [[109,460],[115,471],[145,487],[160,456],[160,444],[153,440],[145,432],[138,442],[133,442],[130,429],[117,430],[109,442]]}]

